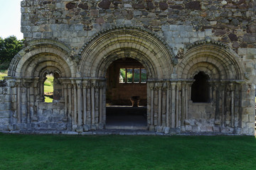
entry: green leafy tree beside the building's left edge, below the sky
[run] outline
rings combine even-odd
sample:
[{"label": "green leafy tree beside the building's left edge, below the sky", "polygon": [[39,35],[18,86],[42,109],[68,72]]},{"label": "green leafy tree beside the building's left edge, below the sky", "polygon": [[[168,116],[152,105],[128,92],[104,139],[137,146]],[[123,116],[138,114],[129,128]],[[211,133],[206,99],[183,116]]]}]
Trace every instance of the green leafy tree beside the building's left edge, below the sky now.
[{"label": "green leafy tree beside the building's left edge, below the sky", "polygon": [[11,60],[22,49],[23,40],[17,40],[12,35],[8,38],[0,38],[0,69],[8,69]]}]

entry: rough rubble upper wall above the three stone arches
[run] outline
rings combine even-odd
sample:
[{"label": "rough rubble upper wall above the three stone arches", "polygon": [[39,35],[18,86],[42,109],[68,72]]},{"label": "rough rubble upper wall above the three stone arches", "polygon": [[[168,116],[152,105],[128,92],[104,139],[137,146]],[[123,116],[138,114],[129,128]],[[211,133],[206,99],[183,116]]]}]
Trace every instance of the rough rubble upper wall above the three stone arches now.
[{"label": "rough rubble upper wall above the three stone arches", "polygon": [[100,30],[141,26],[178,52],[207,36],[235,51],[255,47],[255,1],[63,0],[21,2],[24,38],[54,38],[79,50]]}]

